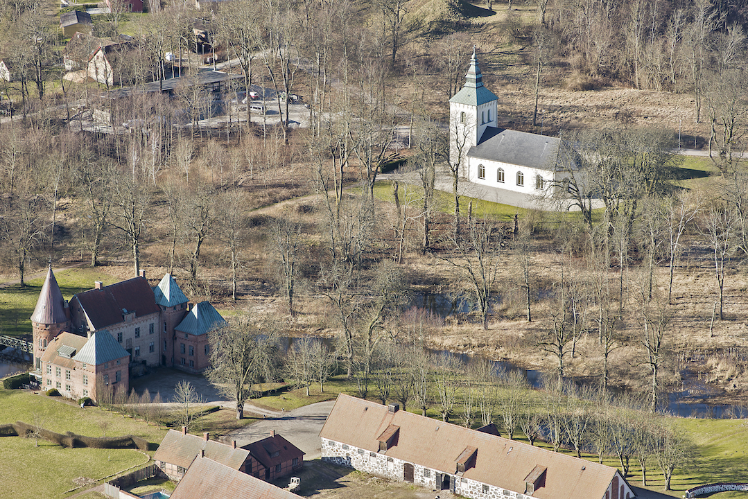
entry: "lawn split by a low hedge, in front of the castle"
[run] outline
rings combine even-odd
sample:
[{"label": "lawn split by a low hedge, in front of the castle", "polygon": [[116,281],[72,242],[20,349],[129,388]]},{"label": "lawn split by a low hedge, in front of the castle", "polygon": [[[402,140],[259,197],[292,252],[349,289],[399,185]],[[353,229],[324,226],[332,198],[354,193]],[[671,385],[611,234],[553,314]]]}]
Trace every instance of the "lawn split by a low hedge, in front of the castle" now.
[{"label": "lawn split by a low hedge, in front of the castle", "polygon": [[[0,388],[0,423],[31,423],[34,417],[41,426],[59,433],[97,437],[105,429],[108,436],[138,435],[152,444],[151,455],[166,432],[99,408],[82,410],[60,397]],[[33,438],[1,437],[0,499],[58,498],[76,487],[73,480],[77,477],[99,480],[147,460],[134,449],[66,449],[42,439],[34,447]]]}]

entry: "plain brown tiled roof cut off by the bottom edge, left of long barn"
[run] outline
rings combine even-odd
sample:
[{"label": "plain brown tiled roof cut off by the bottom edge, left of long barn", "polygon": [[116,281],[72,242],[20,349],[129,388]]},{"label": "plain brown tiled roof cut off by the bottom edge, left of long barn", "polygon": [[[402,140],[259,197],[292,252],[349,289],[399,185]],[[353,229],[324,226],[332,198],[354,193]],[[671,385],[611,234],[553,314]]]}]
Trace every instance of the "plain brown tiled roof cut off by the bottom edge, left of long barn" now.
[{"label": "plain brown tiled roof cut off by the bottom edge, left of long barn", "polygon": [[197,457],[177,483],[171,499],[300,499],[259,478],[235,471],[207,457]]}]

